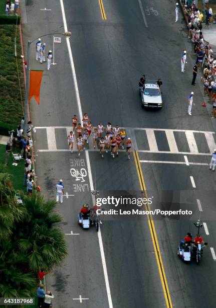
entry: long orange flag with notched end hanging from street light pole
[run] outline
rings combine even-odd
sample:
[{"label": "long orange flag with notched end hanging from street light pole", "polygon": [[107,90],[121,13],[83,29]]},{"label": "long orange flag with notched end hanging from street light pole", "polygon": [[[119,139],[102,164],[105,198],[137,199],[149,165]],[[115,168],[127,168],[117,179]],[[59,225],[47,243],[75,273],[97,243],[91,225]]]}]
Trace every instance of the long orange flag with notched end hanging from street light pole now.
[{"label": "long orange flag with notched end hanging from street light pole", "polygon": [[30,87],[29,87],[29,101],[34,96],[38,105],[40,105],[40,90],[43,70],[30,70]]}]

